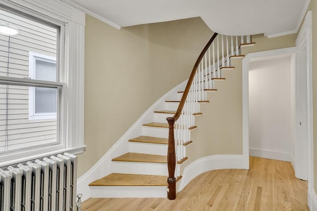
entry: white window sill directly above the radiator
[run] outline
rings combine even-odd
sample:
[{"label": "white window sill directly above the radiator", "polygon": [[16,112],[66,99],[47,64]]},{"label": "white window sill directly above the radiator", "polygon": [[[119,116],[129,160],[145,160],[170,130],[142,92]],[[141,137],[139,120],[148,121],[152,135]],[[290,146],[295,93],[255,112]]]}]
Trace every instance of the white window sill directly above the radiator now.
[{"label": "white window sill directly above the radiator", "polygon": [[14,164],[27,162],[27,161],[31,161],[31,160],[36,160],[36,159],[43,158],[43,157],[49,157],[51,155],[61,154],[64,152],[68,152],[68,153],[73,154],[73,155],[78,155],[78,154],[83,153],[85,148],[86,148],[86,145],[82,145],[82,146],[78,146],[78,147],[65,148],[65,149],[55,150],[55,151],[46,152],[46,153],[42,153],[42,154],[32,155],[32,156],[28,156],[28,157],[24,157],[24,158],[8,160],[5,162],[0,162],[0,168],[14,165]]}]

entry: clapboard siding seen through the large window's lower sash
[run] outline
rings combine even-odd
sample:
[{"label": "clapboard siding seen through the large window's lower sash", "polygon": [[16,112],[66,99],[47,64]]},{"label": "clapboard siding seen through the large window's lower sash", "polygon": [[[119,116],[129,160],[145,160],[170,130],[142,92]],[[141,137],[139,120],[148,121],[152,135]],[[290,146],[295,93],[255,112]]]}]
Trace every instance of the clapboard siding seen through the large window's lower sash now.
[{"label": "clapboard siding seen through the large window's lower sash", "polygon": [[58,143],[56,118],[29,120],[30,88],[37,87],[0,84],[0,154]]}]

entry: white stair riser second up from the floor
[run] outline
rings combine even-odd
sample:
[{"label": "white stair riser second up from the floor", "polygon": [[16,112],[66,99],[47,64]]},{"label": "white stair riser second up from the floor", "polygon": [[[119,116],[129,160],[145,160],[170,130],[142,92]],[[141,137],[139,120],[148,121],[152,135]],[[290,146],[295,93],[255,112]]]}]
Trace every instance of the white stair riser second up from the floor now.
[{"label": "white stair riser second up from the floor", "polygon": [[167,164],[112,161],[112,172],[168,175]]}]

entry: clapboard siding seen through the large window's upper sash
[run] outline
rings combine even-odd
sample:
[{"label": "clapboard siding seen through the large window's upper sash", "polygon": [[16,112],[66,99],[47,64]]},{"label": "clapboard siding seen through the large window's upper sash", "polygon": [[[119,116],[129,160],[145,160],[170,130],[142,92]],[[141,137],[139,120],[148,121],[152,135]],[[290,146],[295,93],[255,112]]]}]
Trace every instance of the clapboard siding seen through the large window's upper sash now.
[{"label": "clapboard siding seen through the large window's upper sash", "polygon": [[18,29],[18,34],[12,35],[10,39],[0,34],[0,76],[35,79],[34,54],[56,61],[56,27],[3,10],[0,10],[0,23],[9,23]]}]

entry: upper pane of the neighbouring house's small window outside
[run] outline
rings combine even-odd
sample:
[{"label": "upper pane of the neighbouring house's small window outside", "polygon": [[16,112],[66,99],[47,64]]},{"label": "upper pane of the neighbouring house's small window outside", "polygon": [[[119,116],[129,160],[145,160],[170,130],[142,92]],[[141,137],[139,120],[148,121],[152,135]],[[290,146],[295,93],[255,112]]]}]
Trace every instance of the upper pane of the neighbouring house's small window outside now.
[{"label": "upper pane of the neighbouring house's small window outside", "polygon": [[36,59],[35,79],[56,81],[56,63]]}]

